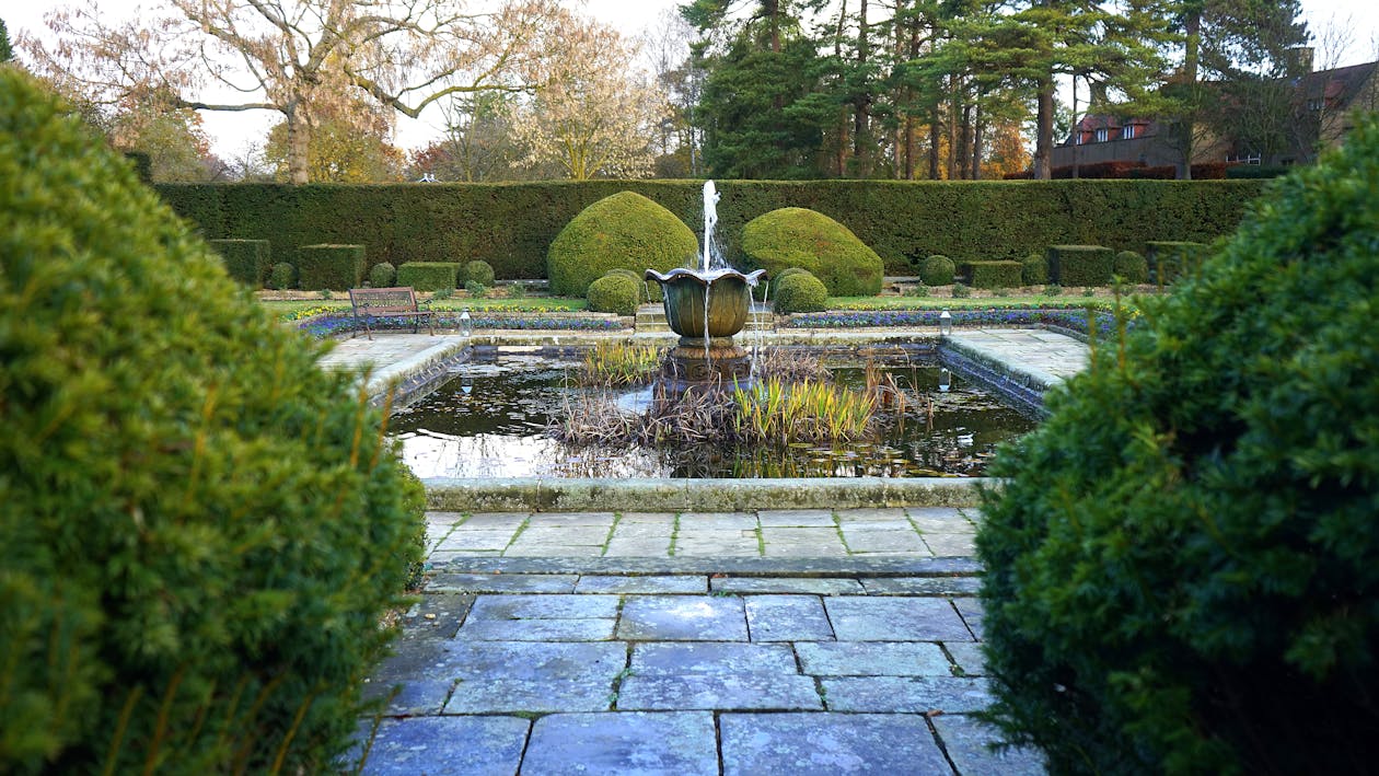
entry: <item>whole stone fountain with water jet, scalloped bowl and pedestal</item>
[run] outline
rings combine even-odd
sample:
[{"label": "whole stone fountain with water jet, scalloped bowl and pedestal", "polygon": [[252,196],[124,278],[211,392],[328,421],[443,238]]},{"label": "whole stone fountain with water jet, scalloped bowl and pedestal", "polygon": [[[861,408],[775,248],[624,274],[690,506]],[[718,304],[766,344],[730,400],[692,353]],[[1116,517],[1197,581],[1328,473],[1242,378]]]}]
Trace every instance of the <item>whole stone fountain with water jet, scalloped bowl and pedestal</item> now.
[{"label": "whole stone fountain with water jet, scalloped bowl and pedestal", "polygon": [[743,274],[727,266],[716,252],[717,203],[713,181],[705,181],[701,269],[680,267],[666,274],[645,272],[647,280],[661,284],[666,323],[680,335],[680,343],[661,367],[666,396],[678,396],[691,387],[745,386],[752,379],[752,360],[732,338],[747,323],[752,288],[765,280],[765,270]]}]

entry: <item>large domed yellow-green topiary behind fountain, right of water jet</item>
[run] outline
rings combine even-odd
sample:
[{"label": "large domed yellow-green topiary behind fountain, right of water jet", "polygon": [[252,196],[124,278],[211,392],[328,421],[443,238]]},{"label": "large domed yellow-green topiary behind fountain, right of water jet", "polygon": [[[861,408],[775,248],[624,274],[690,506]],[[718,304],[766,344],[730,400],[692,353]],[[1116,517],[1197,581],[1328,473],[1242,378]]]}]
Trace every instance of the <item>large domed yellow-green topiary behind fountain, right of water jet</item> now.
[{"label": "large domed yellow-green topiary behind fountain, right of water jet", "polygon": [[881,292],[881,256],[832,218],[805,208],[781,208],[742,227],[747,263],[775,277],[787,267],[809,270],[834,296]]}]

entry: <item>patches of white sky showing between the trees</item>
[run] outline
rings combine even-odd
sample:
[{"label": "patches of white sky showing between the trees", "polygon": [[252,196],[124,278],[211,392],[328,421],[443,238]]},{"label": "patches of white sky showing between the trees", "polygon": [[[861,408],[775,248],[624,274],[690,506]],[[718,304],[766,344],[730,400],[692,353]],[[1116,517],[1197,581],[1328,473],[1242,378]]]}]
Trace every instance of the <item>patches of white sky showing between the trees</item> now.
[{"label": "patches of white sky showing between the trees", "polygon": [[[585,12],[593,18],[618,28],[626,36],[641,34],[647,28],[655,25],[656,19],[666,10],[676,8],[685,0],[567,0],[571,8],[583,7]],[[43,17],[48,11],[70,4],[68,0],[10,0],[0,10],[0,19],[4,19],[10,32],[10,39],[15,40],[21,32],[47,34]],[[102,12],[114,17],[128,17],[139,12],[139,8],[153,8],[160,6],[157,0],[98,0]],[[1302,0],[1303,18],[1314,36],[1318,47],[1318,66],[1345,66],[1379,59],[1379,3],[1373,0]],[[1346,48],[1336,54],[1325,51],[1324,37],[1327,30],[1345,30],[1342,37],[1349,37]],[[217,113],[203,112],[203,121],[211,135],[214,150],[221,154],[232,154],[244,146],[247,141],[262,141],[279,116],[270,112],[244,113]],[[425,119],[426,114],[423,114]],[[440,125],[433,117],[430,121],[415,121],[400,117],[397,124],[396,142],[407,149],[426,145],[440,134]]]}]

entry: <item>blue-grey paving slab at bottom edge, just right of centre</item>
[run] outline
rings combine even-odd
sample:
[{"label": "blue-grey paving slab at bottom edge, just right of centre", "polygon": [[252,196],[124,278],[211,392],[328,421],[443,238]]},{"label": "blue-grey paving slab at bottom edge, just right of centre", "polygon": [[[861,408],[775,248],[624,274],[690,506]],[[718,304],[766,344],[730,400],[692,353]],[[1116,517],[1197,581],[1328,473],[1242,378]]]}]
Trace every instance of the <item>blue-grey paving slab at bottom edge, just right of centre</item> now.
[{"label": "blue-grey paving slab at bottom edge, just right of centre", "polygon": [[952,773],[923,717],[724,714],[724,776]]}]

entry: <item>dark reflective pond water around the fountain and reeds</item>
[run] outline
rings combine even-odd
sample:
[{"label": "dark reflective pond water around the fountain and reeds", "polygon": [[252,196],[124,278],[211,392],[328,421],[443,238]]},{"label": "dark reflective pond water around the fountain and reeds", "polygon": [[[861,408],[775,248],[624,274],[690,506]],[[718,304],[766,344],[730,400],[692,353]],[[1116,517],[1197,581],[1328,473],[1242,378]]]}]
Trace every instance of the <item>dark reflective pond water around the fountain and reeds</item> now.
[{"label": "dark reflective pond water around the fountain and reeds", "polygon": [[[826,361],[836,382],[865,385],[860,365]],[[903,413],[878,412],[873,438],[785,447],[574,447],[546,429],[567,401],[575,360],[496,353],[456,368],[436,391],[389,420],[419,477],[935,477],[979,476],[997,444],[1037,420],[953,376],[938,390],[939,365],[909,357],[878,363],[906,394]],[[648,389],[616,391],[636,407]],[[932,402],[932,415],[925,407]]]}]

